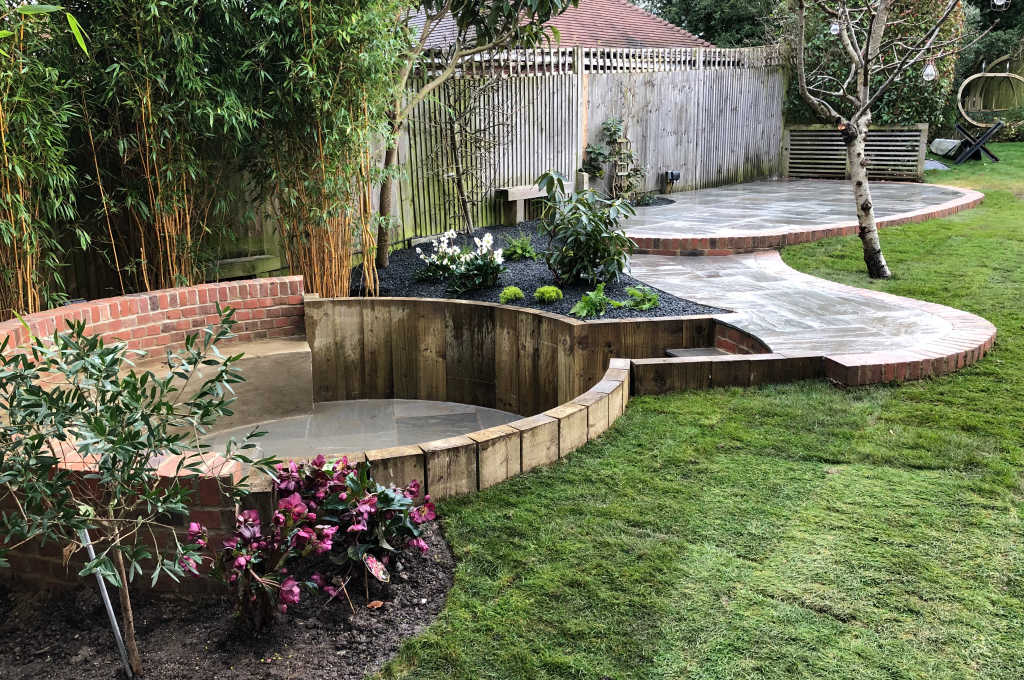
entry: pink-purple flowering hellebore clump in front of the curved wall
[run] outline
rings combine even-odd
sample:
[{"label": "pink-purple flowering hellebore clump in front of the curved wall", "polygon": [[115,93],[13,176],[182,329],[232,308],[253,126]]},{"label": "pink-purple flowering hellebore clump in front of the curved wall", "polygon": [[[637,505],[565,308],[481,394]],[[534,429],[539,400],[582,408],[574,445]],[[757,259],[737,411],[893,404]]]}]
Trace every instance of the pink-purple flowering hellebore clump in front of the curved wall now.
[{"label": "pink-purple flowering hellebore clump in front of the curved wall", "polygon": [[[346,585],[352,567],[361,565],[387,583],[392,554],[406,547],[427,551],[421,525],[437,513],[429,496],[416,505],[415,479],[404,488],[383,486],[368,463],[328,463],[323,456],[279,464],[275,477],[279,501],[269,522],[256,510],[243,510],[215,558],[215,573],[231,589],[239,614],[257,629],[273,621],[275,609],[298,603],[302,589],[323,590],[331,599],[343,593],[351,606]],[[189,541],[205,546],[205,532],[189,527]],[[293,560],[315,555],[328,555],[347,572],[331,581],[321,573],[299,581],[289,572]]]}]

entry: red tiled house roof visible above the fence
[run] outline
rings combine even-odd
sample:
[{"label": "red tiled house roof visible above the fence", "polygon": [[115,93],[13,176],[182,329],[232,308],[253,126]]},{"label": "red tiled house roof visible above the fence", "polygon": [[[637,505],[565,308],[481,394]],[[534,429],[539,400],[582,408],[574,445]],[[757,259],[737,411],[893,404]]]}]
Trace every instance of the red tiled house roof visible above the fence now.
[{"label": "red tiled house roof visible above the fence", "polygon": [[[410,17],[413,27],[423,26],[423,12]],[[560,47],[713,47],[692,33],[680,29],[629,0],[580,0],[548,22],[558,29]],[[427,38],[426,47],[446,47],[455,41],[456,25],[444,16]]]}]

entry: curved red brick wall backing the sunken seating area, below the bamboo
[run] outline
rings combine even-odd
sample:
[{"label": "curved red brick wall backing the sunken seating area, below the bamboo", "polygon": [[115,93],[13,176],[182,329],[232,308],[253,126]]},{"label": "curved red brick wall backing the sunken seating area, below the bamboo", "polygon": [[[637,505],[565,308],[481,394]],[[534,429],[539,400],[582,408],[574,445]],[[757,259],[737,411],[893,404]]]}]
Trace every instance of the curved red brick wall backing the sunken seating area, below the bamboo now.
[{"label": "curved red brick wall backing the sunken seating area, below the bamboo", "polygon": [[[29,314],[26,330],[18,320],[0,323],[0,341],[10,347],[67,329],[67,321],[85,321],[88,331],[104,340],[124,340],[130,349],[173,347],[217,321],[217,304],[237,309],[233,342],[305,334],[302,277],[280,277],[224,284],[203,284],[152,293],[92,300]],[[10,348],[8,348],[10,351]]]}]

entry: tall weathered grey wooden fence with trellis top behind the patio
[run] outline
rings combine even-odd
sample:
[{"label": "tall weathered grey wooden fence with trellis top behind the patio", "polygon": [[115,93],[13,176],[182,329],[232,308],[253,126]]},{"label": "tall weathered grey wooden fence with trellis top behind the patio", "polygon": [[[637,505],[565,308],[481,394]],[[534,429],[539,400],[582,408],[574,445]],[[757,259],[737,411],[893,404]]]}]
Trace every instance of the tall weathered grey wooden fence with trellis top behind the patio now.
[{"label": "tall weathered grey wooden fence with trellis top behind the patio", "polygon": [[[462,225],[455,181],[438,164],[451,146],[440,123],[452,88],[488,79],[498,81],[489,110],[507,118],[508,132],[490,159],[492,187],[527,184],[547,170],[571,179],[608,118],[623,119],[651,190],[667,170],[681,174],[673,190],[782,173],[784,73],[772,47],[506,50],[467,58],[457,73],[416,109],[400,142],[395,241]],[[472,215],[477,226],[496,224],[501,206],[487,193]]]}]

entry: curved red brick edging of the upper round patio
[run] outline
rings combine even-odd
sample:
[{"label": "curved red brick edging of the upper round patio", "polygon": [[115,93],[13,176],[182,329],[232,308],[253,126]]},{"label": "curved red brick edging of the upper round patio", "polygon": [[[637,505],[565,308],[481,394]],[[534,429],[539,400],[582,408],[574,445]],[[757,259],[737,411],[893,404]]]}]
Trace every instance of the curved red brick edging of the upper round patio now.
[{"label": "curved red brick edging of the upper round patio", "polygon": [[[886,182],[898,183],[898,182]],[[985,195],[974,189],[946,184],[934,184],[940,188],[959,192],[962,196],[919,210],[882,217],[878,220],[880,228],[923,222],[938,217],[948,217],[963,210],[977,207]],[[737,255],[760,250],[777,250],[785,246],[801,243],[812,243],[836,237],[856,236],[858,231],[856,220],[842,222],[826,222],[812,229],[781,228],[769,231],[752,230],[723,237],[630,237],[637,244],[637,254],[641,255]],[[627,236],[629,232],[627,231]]]}]

